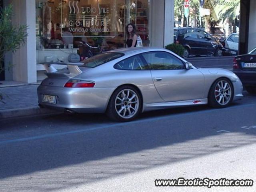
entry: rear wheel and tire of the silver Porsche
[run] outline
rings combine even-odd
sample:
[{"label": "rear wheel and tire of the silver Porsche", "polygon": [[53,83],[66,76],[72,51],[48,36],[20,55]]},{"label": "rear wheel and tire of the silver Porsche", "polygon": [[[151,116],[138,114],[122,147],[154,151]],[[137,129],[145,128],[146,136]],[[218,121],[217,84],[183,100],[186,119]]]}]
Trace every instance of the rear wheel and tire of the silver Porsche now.
[{"label": "rear wheel and tire of the silver Porsche", "polygon": [[[122,93],[124,93],[126,97],[124,97]],[[131,101],[129,101],[129,96],[130,98],[134,96],[134,98]],[[122,101],[120,98],[122,99]],[[142,98],[140,93],[133,86],[126,85],[117,88],[114,91],[110,98],[110,101],[108,102],[106,114],[109,118],[111,118],[114,121],[127,122],[134,120],[138,116],[138,114],[140,114],[141,108]],[[120,112],[118,113],[118,111]],[[121,113],[123,113],[123,116]]]}]

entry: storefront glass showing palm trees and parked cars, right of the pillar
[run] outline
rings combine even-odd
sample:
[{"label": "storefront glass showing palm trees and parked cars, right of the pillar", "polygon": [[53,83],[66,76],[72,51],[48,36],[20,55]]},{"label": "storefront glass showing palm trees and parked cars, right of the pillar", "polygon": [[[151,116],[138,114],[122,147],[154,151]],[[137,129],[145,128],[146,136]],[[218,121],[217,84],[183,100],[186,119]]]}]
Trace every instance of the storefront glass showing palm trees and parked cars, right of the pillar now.
[{"label": "storefront glass showing palm trees and parked cars, right of the pillar", "polygon": [[174,0],[174,43],[184,57],[238,54],[240,0]]}]

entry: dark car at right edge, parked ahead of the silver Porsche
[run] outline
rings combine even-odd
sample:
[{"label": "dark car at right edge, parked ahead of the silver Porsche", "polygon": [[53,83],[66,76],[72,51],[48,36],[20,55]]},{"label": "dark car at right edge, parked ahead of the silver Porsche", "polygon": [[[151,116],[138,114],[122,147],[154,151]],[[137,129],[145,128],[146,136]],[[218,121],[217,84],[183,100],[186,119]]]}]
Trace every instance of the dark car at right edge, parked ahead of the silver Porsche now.
[{"label": "dark car at right edge, parked ahead of the silver Porsche", "polygon": [[250,94],[256,94],[256,48],[233,60],[233,71]]}]

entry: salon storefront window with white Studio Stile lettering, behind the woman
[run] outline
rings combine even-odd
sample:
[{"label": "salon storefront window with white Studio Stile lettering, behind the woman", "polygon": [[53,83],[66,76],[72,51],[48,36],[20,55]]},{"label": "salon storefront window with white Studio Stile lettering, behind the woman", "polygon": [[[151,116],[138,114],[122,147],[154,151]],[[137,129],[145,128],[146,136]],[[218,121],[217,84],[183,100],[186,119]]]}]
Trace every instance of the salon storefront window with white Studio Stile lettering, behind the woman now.
[{"label": "salon storefront window with white Studio Stile lettering, behind the woman", "polygon": [[149,46],[148,19],[149,0],[36,0],[37,63],[126,47],[128,23]]}]

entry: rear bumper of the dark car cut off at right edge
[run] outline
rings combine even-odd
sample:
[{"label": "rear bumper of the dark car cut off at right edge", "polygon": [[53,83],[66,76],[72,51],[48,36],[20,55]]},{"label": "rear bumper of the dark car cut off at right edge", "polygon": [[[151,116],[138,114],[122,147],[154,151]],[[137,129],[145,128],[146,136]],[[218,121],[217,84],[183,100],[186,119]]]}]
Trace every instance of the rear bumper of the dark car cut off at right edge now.
[{"label": "rear bumper of the dark car cut off at right edge", "polygon": [[244,86],[256,86],[256,71],[234,71]]}]

